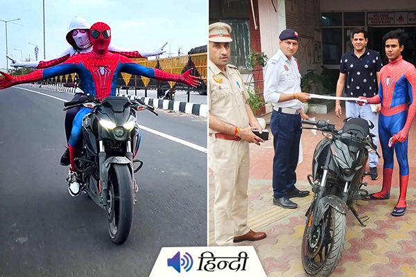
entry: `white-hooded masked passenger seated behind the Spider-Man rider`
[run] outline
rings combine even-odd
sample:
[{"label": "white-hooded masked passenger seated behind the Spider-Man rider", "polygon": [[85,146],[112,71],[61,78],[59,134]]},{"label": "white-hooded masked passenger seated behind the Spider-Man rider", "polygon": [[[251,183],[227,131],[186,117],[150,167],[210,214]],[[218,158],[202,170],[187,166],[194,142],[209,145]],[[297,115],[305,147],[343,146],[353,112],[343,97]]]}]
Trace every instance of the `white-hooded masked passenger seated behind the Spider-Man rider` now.
[{"label": "white-hooded masked passenger seated behind the Spider-Man rider", "polygon": [[[10,60],[12,60],[11,66],[15,67],[29,67],[35,69],[46,69],[57,64],[61,64],[72,57],[80,53],[89,53],[92,51],[92,43],[89,41],[89,27],[90,24],[87,23],[83,17],[77,15],[69,24],[69,31],[67,33],[67,42],[71,45],[69,48],[65,49],[59,55],[53,57],[52,60],[41,60],[41,61],[31,61],[31,62],[22,62],[13,57],[6,55]],[[155,51],[138,51],[127,48],[121,48],[110,44],[108,46],[108,51],[113,53],[119,53],[125,55],[126,57],[150,57],[154,55],[160,55],[164,53],[163,47],[158,48]],[[79,83],[76,88],[75,96],[72,100],[80,98],[84,93],[83,84]],[[67,136],[67,143],[69,143],[69,137],[71,136],[71,129],[73,118],[75,118],[76,113],[79,111],[80,107],[73,107],[72,109],[67,109],[65,113],[65,134]],[[60,163],[62,166],[69,166],[69,151],[68,148],[62,154]]]}]

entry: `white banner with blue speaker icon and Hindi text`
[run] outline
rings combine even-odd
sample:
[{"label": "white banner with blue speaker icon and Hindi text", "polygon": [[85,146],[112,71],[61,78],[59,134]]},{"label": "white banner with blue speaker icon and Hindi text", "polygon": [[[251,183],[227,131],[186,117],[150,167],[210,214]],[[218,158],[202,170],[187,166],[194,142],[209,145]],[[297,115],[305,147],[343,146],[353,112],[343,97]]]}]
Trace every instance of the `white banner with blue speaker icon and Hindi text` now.
[{"label": "white banner with blue speaker icon and Hindi text", "polygon": [[163,247],[150,277],[266,277],[254,247]]}]

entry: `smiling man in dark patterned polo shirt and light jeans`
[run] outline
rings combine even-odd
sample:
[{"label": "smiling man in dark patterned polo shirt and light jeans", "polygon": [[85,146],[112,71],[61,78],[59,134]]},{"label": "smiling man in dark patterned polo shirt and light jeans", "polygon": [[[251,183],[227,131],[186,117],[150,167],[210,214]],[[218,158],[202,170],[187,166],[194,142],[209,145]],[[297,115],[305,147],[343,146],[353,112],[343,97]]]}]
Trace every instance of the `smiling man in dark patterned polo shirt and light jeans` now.
[{"label": "smiling man in dark patterned polo shirt and light jeans", "polygon": [[[380,81],[380,69],[383,66],[380,54],[366,47],[368,42],[367,31],[363,28],[352,30],[351,42],[354,49],[341,57],[340,77],[336,84],[336,96],[341,96],[344,88],[347,97],[375,96],[377,94],[377,84]],[[340,100],[336,101],[335,114],[338,117],[342,114]],[[359,117],[371,121],[374,124],[374,128],[370,129],[370,132],[376,135],[373,138],[373,142],[378,147],[378,116],[376,112],[372,111],[370,105],[361,107],[356,102],[346,101],[345,116],[347,118]],[[370,153],[369,158],[368,165],[370,166],[370,173],[372,173],[370,178],[376,180],[379,178],[377,174],[379,158],[376,153]]]}]

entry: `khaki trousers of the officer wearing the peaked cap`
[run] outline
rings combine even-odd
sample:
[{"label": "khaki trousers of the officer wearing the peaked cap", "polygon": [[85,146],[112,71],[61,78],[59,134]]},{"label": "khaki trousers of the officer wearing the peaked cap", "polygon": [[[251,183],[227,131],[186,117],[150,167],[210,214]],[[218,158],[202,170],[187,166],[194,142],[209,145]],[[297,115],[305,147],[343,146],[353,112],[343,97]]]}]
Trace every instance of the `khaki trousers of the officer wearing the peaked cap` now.
[{"label": "khaki trousers of the officer wearing the peaked cap", "polygon": [[246,141],[228,141],[209,136],[209,167],[214,172],[214,226],[218,245],[232,244],[234,236],[250,229],[248,175],[250,148]]}]

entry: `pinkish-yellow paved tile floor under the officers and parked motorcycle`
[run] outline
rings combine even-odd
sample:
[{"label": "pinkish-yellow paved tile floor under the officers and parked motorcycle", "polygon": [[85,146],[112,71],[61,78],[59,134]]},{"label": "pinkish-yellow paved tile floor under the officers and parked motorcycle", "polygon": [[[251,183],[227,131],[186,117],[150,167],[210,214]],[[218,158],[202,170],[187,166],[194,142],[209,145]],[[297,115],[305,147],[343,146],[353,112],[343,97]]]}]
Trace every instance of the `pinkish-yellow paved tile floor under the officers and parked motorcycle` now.
[{"label": "pinkish-yellow paved tile floor under the officers and parked motorcycle", "polygon": [[[309,116],[314,116],[309,114]],[[318,119],[343,126],[342,120],[331,114],[318,114]],[[407,195],[407,210],[402,217],[390,213],[397,204],[399,195],[399,173],[395,165],[392,195],[388,200],[358,201],[356,209],[360,215],[370,217],[361,227],[351,212],[347,214],[347,238],[345,250],[338,267],[331,276],[416,276],[416,129],[410,129],[409,165],[410,179]],[[320,132],[313,135],[310,130],[302,134],[304,161],[297,168],[297,187],[310,189],[306,176],[311,173],[311,159],[315,145],[322,139]],[[381,153],[381,151],[380,151]],[[306,208],[311,195],[294,198],[299,208],[288,210],[272,204],[272,141],[261,146],[250,145],[251,167],[249,181],[248,222],[254,231],[265,231],[267,238],[258,242],[241,242],[236,245],[253,245],[263,264],[267,276],[306,276],[302,267],[301,244],[306,217]],[[379,160],[379,173],[383,159]],[[370,193],[379,191],[382,176],[376,181],[365,178]],[[214,242],[214,178],[209,181],[209,244]]]}]

